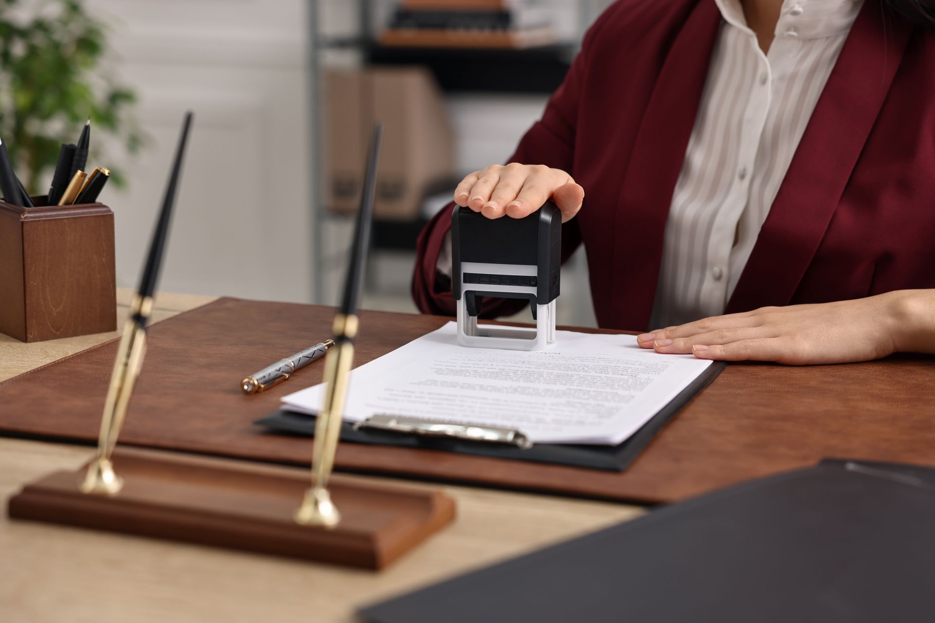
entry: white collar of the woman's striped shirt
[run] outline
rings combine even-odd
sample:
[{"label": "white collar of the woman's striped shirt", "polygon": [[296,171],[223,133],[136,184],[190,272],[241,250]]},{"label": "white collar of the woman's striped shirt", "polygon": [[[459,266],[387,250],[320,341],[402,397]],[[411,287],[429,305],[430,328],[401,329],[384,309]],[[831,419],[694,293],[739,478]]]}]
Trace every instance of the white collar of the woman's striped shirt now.
[{"label": "white collar of the woman's striped shirt", "polygon": [[[753,34],[743,16],[741,0],[714,2],[727,23]],[[851,29],[861,6],[863,0],[784,0],[775,35],[798,39],[843,35]]]}]

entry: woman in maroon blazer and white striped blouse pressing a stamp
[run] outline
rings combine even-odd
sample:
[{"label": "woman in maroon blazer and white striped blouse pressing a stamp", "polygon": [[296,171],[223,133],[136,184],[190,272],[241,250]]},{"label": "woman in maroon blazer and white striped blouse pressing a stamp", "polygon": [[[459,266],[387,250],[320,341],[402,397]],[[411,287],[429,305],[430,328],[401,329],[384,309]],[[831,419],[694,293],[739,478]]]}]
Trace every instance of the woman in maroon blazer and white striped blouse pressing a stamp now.
[{"label": "woman in maroon blazer and white striped blouse pressing a stamp", "polygon": [[[790,363],[920,349],[890,328],[931,294],[889,292],[935,288],[933,197],[933,0],[619,0],[510,164],[454,191],[492,219],[552,198],[601,327]],[[419,238],[425,313],[454,310],[450,213]]]}]

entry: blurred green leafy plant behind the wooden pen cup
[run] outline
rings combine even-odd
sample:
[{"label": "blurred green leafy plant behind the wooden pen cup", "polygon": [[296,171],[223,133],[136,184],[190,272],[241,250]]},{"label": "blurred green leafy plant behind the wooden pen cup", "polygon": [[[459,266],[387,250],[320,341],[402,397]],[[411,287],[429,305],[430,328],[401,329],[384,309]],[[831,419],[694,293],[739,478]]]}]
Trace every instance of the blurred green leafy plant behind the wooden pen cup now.
[{"label": "blurred green leafy plant behind the wooden pen cup", "polygon": [[[88,115],[93,137],[117,135],[130,154],[146,142],[133,117],[136,93],[105,65],[106,33],[79,0],[0,0],[0,136],[30,192],[48,190],[62,144],[78,140]],[[94,157],[101,161],[89,168],[108,166],[106,155]],[[119,173],[111,180],[124,182]]]}]

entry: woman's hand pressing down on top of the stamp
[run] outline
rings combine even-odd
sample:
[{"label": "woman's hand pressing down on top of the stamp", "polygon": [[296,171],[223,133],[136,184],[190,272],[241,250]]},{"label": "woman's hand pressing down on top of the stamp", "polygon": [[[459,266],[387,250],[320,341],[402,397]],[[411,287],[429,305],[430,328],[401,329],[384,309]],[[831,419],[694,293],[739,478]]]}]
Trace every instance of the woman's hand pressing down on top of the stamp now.
[{"label": "woman's hand pressing down on top of the stamp", "polygon": [[584,189],[565,171],[544,164],[493,164],[461,180],[454,203],[481,212],[488,219],[503,215],[522,219],[552,199],[562,211],[562,222],[578,214]]}]

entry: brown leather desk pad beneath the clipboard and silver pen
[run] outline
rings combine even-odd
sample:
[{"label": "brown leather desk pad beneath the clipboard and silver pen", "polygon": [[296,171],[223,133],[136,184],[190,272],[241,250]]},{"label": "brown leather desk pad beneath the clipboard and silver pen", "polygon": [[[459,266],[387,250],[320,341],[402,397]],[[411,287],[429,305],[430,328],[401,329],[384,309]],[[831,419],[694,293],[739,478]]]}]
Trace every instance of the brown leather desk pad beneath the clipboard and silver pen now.
[{"label": "brown leather desk pad beneath the clipboard and silver pen", "polygon": [[[305,437],[252,424],[321,381],[311,364],[261,394],[238,382],[329,336],[334,309],[223,298],[153,324],[121,444],[308,465]],[[355,364],[448,318],[362,312]],[[585,330],[586,331],[586,330]],[[595,331],[595,330],[592,330]],[[622,332],[598,332],[622,333]],[[94,443],[112,340],[0,383],[0,432]],[[623,473],[449,452],[342,444],[343,471],[397,474],[639,503],[670,503],[823,457],[935,466],[935,359],[834,366],[727,366]]]}]

